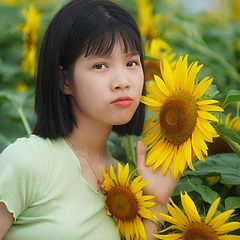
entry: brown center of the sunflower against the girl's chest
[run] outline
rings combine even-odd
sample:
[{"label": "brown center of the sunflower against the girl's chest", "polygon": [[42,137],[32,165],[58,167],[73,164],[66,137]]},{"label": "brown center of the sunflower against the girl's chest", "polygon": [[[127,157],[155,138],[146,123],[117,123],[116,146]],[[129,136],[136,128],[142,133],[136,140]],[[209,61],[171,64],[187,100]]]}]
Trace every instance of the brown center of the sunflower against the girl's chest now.
[{"label": "brown center of the sunflower against the girl's chest", "polygon": [[138,214],[138,202],[125,187],[115,186],[107,194],[106,204],[110,213],[121,220],[132,220]]}]

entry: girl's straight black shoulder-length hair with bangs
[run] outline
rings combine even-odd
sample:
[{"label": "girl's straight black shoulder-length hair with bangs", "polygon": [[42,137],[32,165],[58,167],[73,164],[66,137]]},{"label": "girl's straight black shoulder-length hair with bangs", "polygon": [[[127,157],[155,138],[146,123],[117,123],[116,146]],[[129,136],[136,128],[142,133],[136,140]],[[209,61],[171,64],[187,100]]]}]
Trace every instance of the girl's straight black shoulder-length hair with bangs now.
[{"label": "girl's straight black shoulder-length hair with bangs", "polygon": [[[119,38],[126,52],[139,53],[144,68],[139,29],[120,5],[108,0],[73,0],[60,9],[48,26],[40,49],[34,134],[54,139],[72,131],[76,121],[70,100],[60,87],[60,66],[71,71],[81,54],[111,54]],[[140,103],[132,119],[113,126],[113,131],[140,135],[143,123],[144,106]]]}]

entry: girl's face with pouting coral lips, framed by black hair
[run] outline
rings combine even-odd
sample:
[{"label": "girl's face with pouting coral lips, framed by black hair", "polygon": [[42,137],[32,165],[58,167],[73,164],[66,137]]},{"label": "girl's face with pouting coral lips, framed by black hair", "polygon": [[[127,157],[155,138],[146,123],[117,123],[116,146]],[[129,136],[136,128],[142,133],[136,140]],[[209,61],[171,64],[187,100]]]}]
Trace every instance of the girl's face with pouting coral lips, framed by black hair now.
[{"label": "girl's face with pouting coral lips, framed by black hair", "polygon": [[64,92],[71,95],[77,122],[86,119],[122,125],[131,120],[138,107],[143,82],[139,54],[125,53],[118,41],[110,55],[81,55]]}]

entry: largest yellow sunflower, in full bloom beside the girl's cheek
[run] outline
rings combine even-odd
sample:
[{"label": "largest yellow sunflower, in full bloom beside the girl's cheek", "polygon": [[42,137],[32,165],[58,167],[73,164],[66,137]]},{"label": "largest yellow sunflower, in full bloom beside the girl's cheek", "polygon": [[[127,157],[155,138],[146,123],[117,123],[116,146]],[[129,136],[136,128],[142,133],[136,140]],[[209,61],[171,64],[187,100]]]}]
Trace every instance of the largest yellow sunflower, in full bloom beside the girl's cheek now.
[{"label": "largest yellow sunflower, in full bloom beside the girl's cheek", "polygon": [[205,77],[196,84],[196,75],[201,69],[197,62],[187,64],[187,56],[180,57],[172,71],[166,59],[160,62],[162,78],[154,75],[155,81],[147,84],[147,96],[141,102],[146,109],[155,110],[145,122],[143,142],[147,148],[146,164],[153,169],[163,166],[166,174],[172,163],[174,178],[183,174],[188,165],[194,170],[192,149],[199,160],[207,156],[206,142],[218,137],[209,123],[218,119],[209,111],[223,111],[216,100],[203,99],[212,83]]}]

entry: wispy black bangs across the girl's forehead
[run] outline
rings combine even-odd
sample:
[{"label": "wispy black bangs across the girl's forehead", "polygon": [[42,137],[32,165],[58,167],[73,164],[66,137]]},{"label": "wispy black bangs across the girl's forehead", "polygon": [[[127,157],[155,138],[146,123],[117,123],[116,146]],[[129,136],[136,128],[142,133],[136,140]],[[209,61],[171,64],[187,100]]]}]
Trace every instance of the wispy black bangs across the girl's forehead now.
[{"label": "wispy black bangs across the girl's forehead", "polygon": [[115,28],[113,31],[99,32],[98,35],[87,40],[83,54],[89,55],[110,55],[117,43],[123,45],[124,53],[138,52],[141,55],[141,43],[139,37],[129,29],[120,31]]}]

